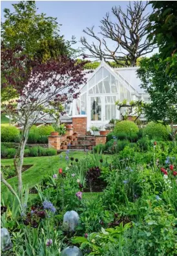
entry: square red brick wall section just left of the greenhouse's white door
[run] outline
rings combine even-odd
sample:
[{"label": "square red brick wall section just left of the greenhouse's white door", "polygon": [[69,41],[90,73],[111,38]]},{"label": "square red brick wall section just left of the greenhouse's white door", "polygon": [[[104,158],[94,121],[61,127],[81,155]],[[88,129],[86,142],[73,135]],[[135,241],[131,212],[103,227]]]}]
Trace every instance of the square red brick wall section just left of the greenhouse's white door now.
[{"label": "square red brick wall section just left of the greenhouse's white door", "polygon": [[72,117],[72,126],[74,132],[79,136],[87,134],[87,117]]}]

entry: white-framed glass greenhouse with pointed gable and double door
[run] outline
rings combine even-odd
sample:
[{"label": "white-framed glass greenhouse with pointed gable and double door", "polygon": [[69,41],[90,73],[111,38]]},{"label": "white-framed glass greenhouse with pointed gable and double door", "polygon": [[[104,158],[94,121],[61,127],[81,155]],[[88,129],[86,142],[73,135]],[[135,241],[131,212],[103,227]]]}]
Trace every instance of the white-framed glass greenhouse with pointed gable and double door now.
[{"label": "white-framed glass greenhouse with pointed gable and double door", "polygon": [[138,67],[111,68],[101,62],[93,73],[87,74],[87,84],[80,89],[78,99],[65,106],[70,117],[87,117],[90,126],[105,126],[111,119],[120,119],[115,102],[124,99],[149,102],[149,94],[140,88],[136,77]]}]

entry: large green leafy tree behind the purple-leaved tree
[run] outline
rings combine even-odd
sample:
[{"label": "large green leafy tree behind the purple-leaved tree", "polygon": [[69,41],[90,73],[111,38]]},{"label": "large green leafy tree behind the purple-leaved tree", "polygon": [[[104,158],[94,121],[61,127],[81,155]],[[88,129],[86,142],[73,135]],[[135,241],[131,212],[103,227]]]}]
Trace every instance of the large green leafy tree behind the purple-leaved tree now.
[{"label": "large green leafy tree behind the purple-leaved tree", "polygon": [[59,55],[72,56],[77,50],[72,48],[72,41],[65,41],[59,35],[59,25],[56,17],[37,14],[35,1],[20,1],[12,4],[15,12],[5,8],[5,21],[1,23],[1,40],[5,47],[14,49],[21,45],[22,54],[29,58],[39,58],[45,62]]}]

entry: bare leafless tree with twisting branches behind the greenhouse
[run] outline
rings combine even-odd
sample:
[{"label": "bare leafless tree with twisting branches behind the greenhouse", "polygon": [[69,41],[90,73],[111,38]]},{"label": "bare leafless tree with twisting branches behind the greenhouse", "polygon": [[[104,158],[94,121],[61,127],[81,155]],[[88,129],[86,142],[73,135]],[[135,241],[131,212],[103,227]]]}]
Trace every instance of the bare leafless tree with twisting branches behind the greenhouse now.
[{"label": "bare leafless tree with twisting branches behind the greenhouse", "polygon": [[[138,58],[152,52],[156,45],[149,43],[147,39],[149,14],[145,14],[146,6],[147,2],[144,4],[142,1],[134,2],[133,7],[129,3],[127,12],[123,12],[120,6],[118,8],[114,6],[112,14],[116,21],[110,21],[109,13],[101,20],[99,34],[103,36],[103,40],[95,34],[94,27],[83,30],[98,43],[98,45],[95,42],[89,44],[85,37],[81,38],[81,43],[90,52],[86,56],[106,62],[114,60],[121,66],[134,66]],[[116,43],[115,49],[110,49],[110,41]]]}]

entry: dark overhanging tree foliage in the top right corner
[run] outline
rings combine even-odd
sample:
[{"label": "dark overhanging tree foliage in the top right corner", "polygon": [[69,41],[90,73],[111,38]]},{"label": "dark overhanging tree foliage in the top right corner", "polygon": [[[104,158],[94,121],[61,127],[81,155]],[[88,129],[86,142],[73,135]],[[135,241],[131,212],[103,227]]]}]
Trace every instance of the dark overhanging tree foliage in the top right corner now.
[{"label": "dark overhanging tree foliage in the top right corner", "polygon": [[171,75],[177,69],[177,1],[151,1],[154,13],[147,27],[149,40],[157,43],[160,58],[166,60],[166,72]]}]

